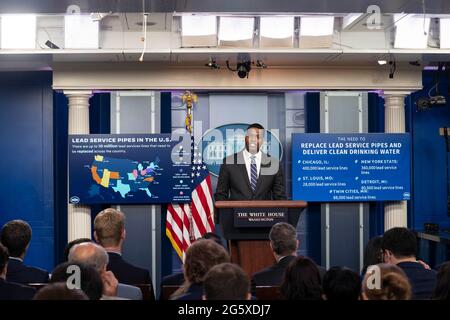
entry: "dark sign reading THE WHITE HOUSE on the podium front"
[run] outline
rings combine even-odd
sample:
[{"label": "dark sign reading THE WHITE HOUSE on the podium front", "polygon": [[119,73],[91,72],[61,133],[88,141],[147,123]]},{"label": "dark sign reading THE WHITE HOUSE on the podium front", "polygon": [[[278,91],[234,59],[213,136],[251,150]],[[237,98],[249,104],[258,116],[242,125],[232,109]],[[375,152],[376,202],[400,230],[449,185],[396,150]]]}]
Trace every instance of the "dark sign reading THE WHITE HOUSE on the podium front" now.
[{"label": "dark sign reading THE WHITE HOUSE on the podium front", "polygon": [[275,223],[287,222],[286,208],[235,208],[234,226],[236,228],[270,228]]}]

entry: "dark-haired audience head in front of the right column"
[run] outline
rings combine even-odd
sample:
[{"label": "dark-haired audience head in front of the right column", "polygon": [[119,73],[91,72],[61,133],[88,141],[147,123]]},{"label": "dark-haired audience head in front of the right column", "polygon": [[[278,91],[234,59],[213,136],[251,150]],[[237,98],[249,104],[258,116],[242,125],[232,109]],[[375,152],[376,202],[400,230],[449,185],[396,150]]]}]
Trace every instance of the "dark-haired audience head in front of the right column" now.
[{"label": "dark-haired audience head in front of the right column", "polygon": [[416,260],[416,236],[407,228],[392,228],[386,231],[381,246],[383,260],[386,263],[397,264],[402,261]]}]

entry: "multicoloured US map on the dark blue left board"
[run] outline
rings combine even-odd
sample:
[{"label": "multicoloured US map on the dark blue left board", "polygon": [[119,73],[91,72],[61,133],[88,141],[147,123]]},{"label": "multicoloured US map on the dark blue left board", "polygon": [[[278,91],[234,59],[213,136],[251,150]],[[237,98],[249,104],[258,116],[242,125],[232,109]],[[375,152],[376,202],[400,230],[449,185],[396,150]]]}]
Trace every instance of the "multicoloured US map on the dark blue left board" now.
[{"label": "multicoloured US map on the dark blue left board", "polygon": [[160,170],[159,158],[154,161],[134,161],[95,155],[91,164],[91,176],[95,184],[89,188],[89,196],[101,196],[102,188],[111,189],[120,197],[134,197],[144,191],[151,199],[151,185]]}]

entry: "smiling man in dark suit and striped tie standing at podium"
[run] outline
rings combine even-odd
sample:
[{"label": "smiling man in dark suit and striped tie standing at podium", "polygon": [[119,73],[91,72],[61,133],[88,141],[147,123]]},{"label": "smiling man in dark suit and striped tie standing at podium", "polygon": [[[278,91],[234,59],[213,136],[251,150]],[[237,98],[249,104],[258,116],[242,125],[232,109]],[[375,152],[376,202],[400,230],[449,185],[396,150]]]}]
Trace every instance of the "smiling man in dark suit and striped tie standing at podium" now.
[{"label": "smiling man in dark suit and striped tie standing at podium", "polygon": [[264,128],[248,126],[245,149],[224,159],[215,200],[285,200],[283,171],[278,159],[260,150]]}]

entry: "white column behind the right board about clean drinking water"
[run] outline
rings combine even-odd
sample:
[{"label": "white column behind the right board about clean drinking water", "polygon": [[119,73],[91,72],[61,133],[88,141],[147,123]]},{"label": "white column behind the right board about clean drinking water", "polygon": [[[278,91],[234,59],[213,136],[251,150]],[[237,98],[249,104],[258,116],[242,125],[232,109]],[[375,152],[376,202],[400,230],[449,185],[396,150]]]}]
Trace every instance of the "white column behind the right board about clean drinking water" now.
[{"label": "white column behind the right board about clean drinking water", "polygon": [[[410,92],[385,91],[384,131],[386,133],[405,132],[405,97]],[[384,230],[394,227],[407,227],[408,214],[406,201],[387,201],[384,205]]]}]

